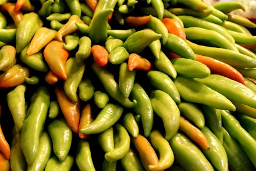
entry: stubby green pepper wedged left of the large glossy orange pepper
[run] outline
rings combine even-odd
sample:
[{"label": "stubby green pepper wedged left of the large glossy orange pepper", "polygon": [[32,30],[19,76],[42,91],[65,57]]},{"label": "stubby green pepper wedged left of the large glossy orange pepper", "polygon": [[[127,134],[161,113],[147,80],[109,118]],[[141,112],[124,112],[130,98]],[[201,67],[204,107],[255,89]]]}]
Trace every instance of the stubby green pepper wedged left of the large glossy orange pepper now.
[{"label": "stubby green pepper wedged left of the large glossy orange pepper", "polygon": [[31,67],[34,70],[39,72],[48,72],[48,66],[44,61],[43,52],[40,50],[32,55],[27,55],[27,50],[29,49],[30,44],[22,49],[20,52],[19,59],[25,65]]}]

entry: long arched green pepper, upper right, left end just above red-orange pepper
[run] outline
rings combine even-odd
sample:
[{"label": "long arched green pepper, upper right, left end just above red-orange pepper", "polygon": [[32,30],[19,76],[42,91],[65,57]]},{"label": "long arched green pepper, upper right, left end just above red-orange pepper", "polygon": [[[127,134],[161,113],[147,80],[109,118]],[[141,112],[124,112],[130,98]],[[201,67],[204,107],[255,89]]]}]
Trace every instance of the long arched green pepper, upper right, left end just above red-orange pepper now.
[{"label": "long arched green pepper, upper right, left end just above red-orange pepper", "polygon": [[177,17],[182,20],[184,27],[201,27],[203,29],[215,30],[218,33],[222,34],[224,37],[226,37],[227,40],[234,43],[234,38],[232,37],[232,35],[230,35],[225,28],[219,26],[218,24],[211,23],[193,16],[183,15]]}]

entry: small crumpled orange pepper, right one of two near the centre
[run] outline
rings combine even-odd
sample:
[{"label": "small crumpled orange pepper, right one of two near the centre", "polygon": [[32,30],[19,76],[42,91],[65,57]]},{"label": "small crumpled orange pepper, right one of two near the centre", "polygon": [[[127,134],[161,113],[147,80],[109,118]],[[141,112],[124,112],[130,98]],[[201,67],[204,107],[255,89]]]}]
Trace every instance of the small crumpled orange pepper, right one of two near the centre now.
[{"label": "small crumpled orange pepper, right one of two near the centre", "polygon": [[128,69],[130,71],[134,69],[148,71],[151,69],[151,63],[148,59],[143,58],[138,54],[132,53],[128,58]]}]

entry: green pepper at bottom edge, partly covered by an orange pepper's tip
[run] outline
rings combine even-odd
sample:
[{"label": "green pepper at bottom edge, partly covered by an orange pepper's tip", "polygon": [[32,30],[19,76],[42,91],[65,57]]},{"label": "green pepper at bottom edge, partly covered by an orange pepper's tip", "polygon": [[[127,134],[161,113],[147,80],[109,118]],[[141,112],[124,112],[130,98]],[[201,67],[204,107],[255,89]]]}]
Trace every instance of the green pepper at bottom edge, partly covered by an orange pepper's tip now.
[{"label": "green pepper at bottom edge, partly covered by an orange pepper's tip", "polygon": [[212,163],[212,165],[218,170],[229,170],[227,154],[222,142],[219,141],[218,137],[207,127],[204,126],[200,129],[208,140],[209,150],[202,149],[204,155]]}]

